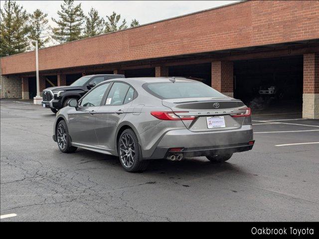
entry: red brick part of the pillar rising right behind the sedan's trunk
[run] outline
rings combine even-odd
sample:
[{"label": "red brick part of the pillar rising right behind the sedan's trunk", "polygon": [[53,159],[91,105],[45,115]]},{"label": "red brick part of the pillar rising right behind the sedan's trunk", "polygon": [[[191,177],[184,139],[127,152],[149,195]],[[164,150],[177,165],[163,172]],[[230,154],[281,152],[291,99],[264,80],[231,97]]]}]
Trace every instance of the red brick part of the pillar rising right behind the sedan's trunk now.
[{"label": "red brick part of the pillar rising right behind the sedan's trunk", "polygon": [[233,63],[230,61],[214,61],[211,63],[211,87],[221,93],[232,93]]}]

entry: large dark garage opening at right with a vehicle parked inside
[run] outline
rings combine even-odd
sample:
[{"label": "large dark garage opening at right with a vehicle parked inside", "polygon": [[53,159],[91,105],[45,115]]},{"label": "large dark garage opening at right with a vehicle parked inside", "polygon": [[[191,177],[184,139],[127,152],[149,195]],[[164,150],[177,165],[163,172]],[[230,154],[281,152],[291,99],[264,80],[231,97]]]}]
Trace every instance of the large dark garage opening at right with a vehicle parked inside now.
[{"label": "large dark garage opening at right with a vehicle parked inside", "polygon": [[303,56],[235,61],[234,97],[254,110],[301,111]]}]

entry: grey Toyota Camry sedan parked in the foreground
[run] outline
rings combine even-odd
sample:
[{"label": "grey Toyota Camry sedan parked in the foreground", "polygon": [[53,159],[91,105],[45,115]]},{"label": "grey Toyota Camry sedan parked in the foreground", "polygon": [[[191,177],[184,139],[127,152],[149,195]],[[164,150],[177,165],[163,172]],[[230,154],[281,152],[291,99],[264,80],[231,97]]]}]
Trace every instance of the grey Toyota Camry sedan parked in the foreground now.
[{"label": "grey Toyota Camry sedan parked in the foreground", "polygon": [[243,102],[174,77],[102,82],[58,111],[53,132],[62,152],[79,147],[116,155],[129,172],[145,170],[150,159],[224,162],[254,145]]}]

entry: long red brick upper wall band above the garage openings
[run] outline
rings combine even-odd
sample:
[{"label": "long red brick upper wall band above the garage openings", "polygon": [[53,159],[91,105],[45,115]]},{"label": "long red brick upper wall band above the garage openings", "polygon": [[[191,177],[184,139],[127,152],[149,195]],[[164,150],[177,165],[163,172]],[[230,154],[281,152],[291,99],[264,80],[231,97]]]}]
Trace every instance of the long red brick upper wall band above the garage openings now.
[{"label": "long red brick upper wall band above the garage openings", "polygon": [[[245,1],[39,50],[39,70],[319,38],[319,1]],[[35,53],[1,58],[2,74],[35,71]]]}]

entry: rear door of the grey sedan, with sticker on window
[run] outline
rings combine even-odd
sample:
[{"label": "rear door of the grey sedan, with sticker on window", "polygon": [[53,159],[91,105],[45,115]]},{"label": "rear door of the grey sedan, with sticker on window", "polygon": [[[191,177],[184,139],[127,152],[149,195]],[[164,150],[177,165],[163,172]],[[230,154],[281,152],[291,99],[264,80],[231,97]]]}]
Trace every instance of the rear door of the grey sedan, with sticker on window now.
[{"label": "rear door of the grey sedan, with sticker on window", "polygon": [[124,82],[114,82],[104,105],[96,115],[95,131],[100,147],[114,150],[115,133],[125,117],[132,101],[137,96],[132,86]]}]

